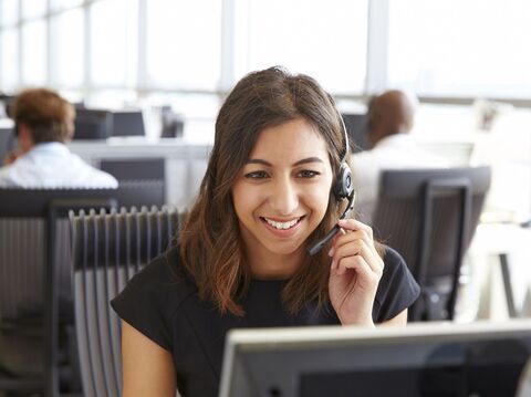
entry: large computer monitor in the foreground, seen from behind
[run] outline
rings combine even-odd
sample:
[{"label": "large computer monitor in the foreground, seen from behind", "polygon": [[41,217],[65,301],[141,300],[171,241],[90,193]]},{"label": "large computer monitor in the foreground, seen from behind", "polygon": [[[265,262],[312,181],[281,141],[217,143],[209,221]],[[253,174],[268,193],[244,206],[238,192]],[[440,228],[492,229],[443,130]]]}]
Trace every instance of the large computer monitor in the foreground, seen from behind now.
[{"label": "large computer monitor in the foreground, seen from behind", "polygon": [[530,352],[530,320],[235,330],[219,396],[514,396]]}]

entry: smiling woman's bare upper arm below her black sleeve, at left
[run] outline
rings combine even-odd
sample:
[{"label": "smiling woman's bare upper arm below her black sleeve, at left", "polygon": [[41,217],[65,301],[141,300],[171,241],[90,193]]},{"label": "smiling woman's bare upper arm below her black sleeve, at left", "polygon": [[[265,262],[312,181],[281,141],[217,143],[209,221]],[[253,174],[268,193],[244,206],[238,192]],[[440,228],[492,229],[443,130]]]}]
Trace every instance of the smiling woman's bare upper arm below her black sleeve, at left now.
[{"label": "smiling woman's bare upper arm below her black sleeve, at left", "polygon": [[177,380],[171,353],[122,321],[124,397],[175,397]]}]

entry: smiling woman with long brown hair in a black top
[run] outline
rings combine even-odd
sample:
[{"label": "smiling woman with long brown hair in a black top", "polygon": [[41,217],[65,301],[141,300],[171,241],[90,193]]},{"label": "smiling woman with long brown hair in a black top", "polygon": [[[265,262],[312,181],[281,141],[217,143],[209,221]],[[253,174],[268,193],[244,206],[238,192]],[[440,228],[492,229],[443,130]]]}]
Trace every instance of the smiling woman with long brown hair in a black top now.
[{"label": "smiling woman with long brown hair in a black top", "polygon": [[112,302],[125,397],[169,397],[176,385],[216,396],[230,328],[405,324],[419,290],[403,259],[367,226],[340,220],[345,147],[341,116],[313,79],[271,67],[236,85],[177,244]]}]

